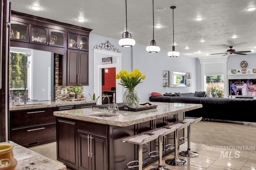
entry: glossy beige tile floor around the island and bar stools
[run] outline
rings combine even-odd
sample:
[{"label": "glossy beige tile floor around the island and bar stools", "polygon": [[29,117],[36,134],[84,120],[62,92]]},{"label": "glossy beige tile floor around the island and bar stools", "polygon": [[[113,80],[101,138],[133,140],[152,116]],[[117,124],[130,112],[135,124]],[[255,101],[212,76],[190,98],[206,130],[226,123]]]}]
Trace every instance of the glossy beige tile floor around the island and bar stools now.
[{"label": "glossy beige tile floor around the island and bar stools", "polygon": [[[179,156],[188,162],[185,166],[165,163],[174,153],[163,158],[162,165],[170,170],[256,170],[256,123],[220,123],[200,121],[191,125],[191,150],[196,158]],[[179,152],[186,150],[187,143]],[[44,156],[56,160],[56,143],[30,147]],[[143,168],[158,167],[158,161]]]}]

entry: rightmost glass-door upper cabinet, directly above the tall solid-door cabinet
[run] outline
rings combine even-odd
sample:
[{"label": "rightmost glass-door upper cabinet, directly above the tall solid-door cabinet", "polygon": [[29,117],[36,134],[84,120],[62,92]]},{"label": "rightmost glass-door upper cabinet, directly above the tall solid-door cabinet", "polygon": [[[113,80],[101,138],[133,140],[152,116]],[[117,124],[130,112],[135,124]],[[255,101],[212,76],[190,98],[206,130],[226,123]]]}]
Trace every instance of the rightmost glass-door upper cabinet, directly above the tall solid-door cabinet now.
[{"label": "rightmost glass-door upper cabinet, directly above the tall solid-door cabinet", "polygon": [[75,33],[68,33],[68,49],[88,51],[89,37]]}]

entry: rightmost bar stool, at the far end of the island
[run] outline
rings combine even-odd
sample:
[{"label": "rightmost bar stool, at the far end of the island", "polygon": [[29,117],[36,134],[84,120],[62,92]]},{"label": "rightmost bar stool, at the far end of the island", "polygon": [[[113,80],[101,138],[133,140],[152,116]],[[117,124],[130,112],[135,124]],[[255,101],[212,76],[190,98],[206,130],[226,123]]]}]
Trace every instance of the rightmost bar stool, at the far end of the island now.
[{"label": "rightmost bar stool, at the far end of the island", "polygon": [[[184,120],[181,121],[182,123],[190,122],[190,125],[188,126],[188,137],[181,137],[180,138],[180,141],[188,141],[188,149],[186,151],[180,152],[179,153],[180,156],[185,156],[185,157],[189,157],[189,158],[194,158],[194,157],[199,156],[199,154],[197,152],[193,152],[193,151],[190,150],[190,127],[191,127],[192,123],[196,123],[196,122],[201,121],[201,120],[202,120],[202,117],[199,117],[197,119],[184,119]],[[184,139],[186,139],[186,140],[184,140]]]}]

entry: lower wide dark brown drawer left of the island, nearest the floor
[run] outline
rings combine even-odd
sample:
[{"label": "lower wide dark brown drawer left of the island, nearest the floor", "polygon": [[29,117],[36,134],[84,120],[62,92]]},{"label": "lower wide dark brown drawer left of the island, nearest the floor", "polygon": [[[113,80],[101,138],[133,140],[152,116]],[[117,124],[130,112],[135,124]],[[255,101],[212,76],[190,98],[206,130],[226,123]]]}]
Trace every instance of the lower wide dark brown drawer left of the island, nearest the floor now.
[{"label": "lower wide dark brown drawer left of the island, nearest the floor", "polygon": [[56,123],[12,129],[11,141],[32,147],[56,141]]}]

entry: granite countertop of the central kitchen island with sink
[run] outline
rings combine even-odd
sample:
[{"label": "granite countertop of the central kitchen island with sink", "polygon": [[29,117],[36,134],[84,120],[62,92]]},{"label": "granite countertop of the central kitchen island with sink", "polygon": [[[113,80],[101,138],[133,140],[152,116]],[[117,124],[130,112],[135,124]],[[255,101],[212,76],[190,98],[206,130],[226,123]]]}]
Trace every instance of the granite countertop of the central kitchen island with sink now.
[{"label": "granite countertop of the central kitchen island with sink", "polygon": [[[142,102],[143,103],[143,102]],[[144,102],[145,103],[145,102]],[[94,123],[101,123],[106,125],[114,125],[120,127],[126,127],[137,123],[142,123],[185,111],[198,109],[202,107],[202,104],[182,104],[182,103],[163,103],[163,102],[150,102],[150,104],[157,105],[154,109],[148,109],[144,111],[121,111],[116,113],[107,109],[85,108],[74,109],[64,111],[54,111],[54,115],[57,117],[66,117],[70,119],[76,119],[81,121],[89,121]],[[98,117],[95,115],[114,115],[112,117]]]}]

